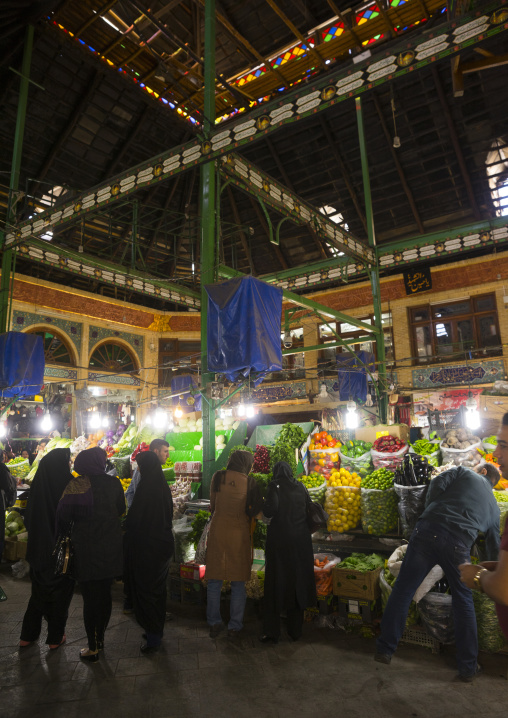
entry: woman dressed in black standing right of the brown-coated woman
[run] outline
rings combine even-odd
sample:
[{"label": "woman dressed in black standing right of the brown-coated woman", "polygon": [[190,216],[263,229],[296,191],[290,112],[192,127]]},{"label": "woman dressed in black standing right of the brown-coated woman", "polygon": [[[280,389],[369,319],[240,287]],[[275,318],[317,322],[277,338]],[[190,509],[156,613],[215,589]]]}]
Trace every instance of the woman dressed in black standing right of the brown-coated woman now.
[{"label": "woman dressed in black standing right of the brown-coated woman", "polygon": [[278,642],[283,610],[288,635],[297,641],[302,635],[304,610],[316,603],[314,554],[307,524],[309,502],[307,490],[293,477],[290,465],[285,461],[275,464],[263,504],[263,513],[271,521],[265,549],[262,643]]}]

